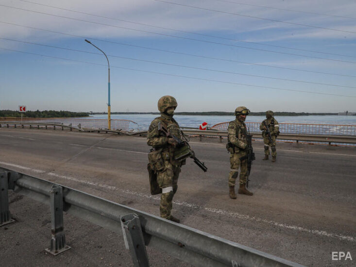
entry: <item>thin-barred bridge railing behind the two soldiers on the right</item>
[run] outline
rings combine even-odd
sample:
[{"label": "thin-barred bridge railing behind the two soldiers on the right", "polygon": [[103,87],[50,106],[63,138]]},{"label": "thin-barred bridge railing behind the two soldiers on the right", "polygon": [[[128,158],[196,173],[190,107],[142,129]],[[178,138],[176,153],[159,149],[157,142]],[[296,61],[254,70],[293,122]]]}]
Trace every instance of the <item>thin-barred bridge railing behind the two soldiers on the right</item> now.
[{"label": "thin-barred bridge railing behind the two soldiers on the right", "polygon": [[[259,122],[245,122],[250,132],[261,132]],[[215,124],[211,129],[227,131],[229,122]],[[355,135],[356,125],[279,123],[279,131],[283,134],[325,134],[325,135]]]}]

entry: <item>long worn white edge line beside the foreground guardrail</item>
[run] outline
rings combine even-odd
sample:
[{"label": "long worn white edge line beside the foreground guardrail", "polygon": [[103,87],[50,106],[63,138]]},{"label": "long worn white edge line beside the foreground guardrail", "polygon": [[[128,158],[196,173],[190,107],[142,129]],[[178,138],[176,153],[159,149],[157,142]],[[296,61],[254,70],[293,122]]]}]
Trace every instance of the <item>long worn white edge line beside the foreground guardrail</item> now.
[{"label": "long worn white edge line beside the foreground guardrail", "polygon": [[[26,169],[26,170],[32,170],[32,171],[35,171],[35,172],[42,172],[42,173],[45,172],[45,171],[35,170],[35,169],[29,168],[29,167],[23,167],[23,166],[11,164],[11,163],[0,162],[0,164],[5,164],[5,165],[8,165],[8,166],[18,167],[18,168],[22,168],[22,169]],[[78,183],[81,183],[81,184],[90,184],[90,185],[95,185],[95,186],[99,186],[99,187],[106,188],[106,189],[111,189],[111,190],[114,190],[114,191],[121,191],[123,193],[135,195],[135,196],[138,196],[138,197],[144,197],[144,198],[148,198],[148,199],[160,200],[159,197],[155,197],[155,196],[147,195],[147,194],[143,194],[143,193],[138,193],[138,192],[134,192],[134,191],[127,190],[127,189],[120,189],[120,188],[118,188],[116,186],[112,186],[112,185],[108,185],[108,184],[101,184],[101,183],[96,183],[96,182],[80,180],[78,178],[69,177],[69,176],[65,176],[65,175],[59,175],[59,174],[56,174],[56,173],[53,173],[53,172],[48,173],[48,175],[51,175],[51,176],[54,176],[54,177],[58,177],[58,178],[62,178],[62,179],[66,179],[66,180],[69,180],[69,181],[78,182]],[[286,228],[286,229],[300,231],[300,232],[306,232],[306,233],[310,233],[310,234],[317,234],[317,235],[320,235],[320,236],[334,237],[334,238],[337,238],[339,240],[346,240],[346,241],[351,241],[351,242],[355,242],[356,241],[356,238],[353,237],[353,236],[347,236],[347,235],[342,235],[342,234],[333,234],[333,233],[328,233],[328,232],[322,231],[322,230],[307,229],[307,228],[303,228],[303,227],[296,226],[296,225],[288,225],[288,224],[285,224],[285,223],[279,223],[279,222],[275,222],[275,221],[271,221],[271,220],[267,220],[267,219],[263,219],[263,218],[259,218],[259,217],[240,214],[240,213],[237,213],[237,212],[231,212],[231,211],[215,209],[215,208],[209,208],[209,207],[202,207],[202,206],[196,205],[194,203],[188,203],[188,202],[185,202],[185,201],[174,200],[173,202],[174,202],[174,204],[177,204],[177,205],[186,206],[186,207],[190,207],[190,208],[194,208],[194,209],[198,209],[198,210],[205,210],[205,211],[212,212],[212,213],[219,214],[219,215],[227,215],[227,216],[230,216],[230,217],[235,217],[235,218],[245,219],[245,220],[251,220],[251,221],[256,221],[256,222],[264,222],[264,223],[267,223],[267,224],[270,224],[270,225],[275,225],[275,226],[278,226],[278,227],[281,227],[281,228]]]}]

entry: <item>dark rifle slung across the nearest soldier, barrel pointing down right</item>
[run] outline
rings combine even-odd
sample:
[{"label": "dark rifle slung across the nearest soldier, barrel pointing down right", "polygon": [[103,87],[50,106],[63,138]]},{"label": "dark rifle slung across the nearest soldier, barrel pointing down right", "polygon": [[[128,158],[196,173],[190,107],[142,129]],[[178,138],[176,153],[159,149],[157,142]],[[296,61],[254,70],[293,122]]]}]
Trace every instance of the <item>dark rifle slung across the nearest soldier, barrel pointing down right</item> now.
[{"label": "dark rifle slung across the nearest soldier, barrel pointing down right", "polygon": [[187,157],[190,157],[194,160],[194,163],[198,165],[198,167],[200,167],[204,172],[207,171],[208,168],[195,156],[195,153],[190,148],[188,142],[179,139],[173,134],[170,134],[170,132],[163,126],[161,122],[158,123],[158,131],[167,137],[173,138],[177,142],[176,151],[174,152],[175,160],[184,160]]}]

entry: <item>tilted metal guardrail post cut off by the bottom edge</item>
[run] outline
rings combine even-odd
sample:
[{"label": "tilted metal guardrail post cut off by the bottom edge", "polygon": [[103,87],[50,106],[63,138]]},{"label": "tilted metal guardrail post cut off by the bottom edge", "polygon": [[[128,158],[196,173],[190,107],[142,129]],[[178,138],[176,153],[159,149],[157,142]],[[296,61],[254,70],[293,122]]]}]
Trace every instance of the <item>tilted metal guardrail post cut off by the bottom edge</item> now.
[{"label": "tilted metal guardrail post cut off by the bottom edge", "polygon": [[121,217],[121,228],[126,249],[130,250],[135,267],[149,267],[150,263],[143,239],[141,223],[135,213]]}]

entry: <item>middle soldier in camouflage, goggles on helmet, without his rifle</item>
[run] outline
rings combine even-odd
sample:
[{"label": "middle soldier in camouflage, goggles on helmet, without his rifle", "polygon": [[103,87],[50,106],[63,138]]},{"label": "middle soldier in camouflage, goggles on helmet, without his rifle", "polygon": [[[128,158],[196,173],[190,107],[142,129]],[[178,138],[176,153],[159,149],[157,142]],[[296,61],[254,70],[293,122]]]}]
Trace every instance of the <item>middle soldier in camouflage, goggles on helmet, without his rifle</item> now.
[{"label": "middle soldier in camouflage, goggles on helmet, without his rifle", "polygon": [[230,152],[230,173],[229,173],[229,196],[231,199],[236,199],[235,183],[238,176],[238,168],[240,168],[240,181],[238,194],[252,196],[253,193],[246,189],[247,182],[247,160],[240,160],[242,156],[247,154],[247,129],[244,121],[250,113],[246,107],[237,107],[235,110],[236,119],[230,121],[228,126],[228,143],[227,150]]}]

